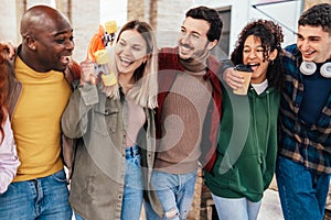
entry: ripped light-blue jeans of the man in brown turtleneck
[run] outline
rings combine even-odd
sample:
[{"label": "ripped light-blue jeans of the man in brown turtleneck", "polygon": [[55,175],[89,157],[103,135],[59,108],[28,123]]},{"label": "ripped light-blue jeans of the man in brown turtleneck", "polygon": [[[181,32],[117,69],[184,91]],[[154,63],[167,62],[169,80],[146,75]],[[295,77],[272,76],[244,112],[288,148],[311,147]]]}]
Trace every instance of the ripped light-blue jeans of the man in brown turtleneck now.
[{"label": "ripped light-blue jeans of the man in brown turtleneck", "polygon": [[[194,196],[195,182],[196,170],[188,174],[168,174],[159,170],[152,173],[151,184],[166,213],[164,220],[188,218]],[[147,204],[145,208],[147,219],[160,219],[150,205]]]}]

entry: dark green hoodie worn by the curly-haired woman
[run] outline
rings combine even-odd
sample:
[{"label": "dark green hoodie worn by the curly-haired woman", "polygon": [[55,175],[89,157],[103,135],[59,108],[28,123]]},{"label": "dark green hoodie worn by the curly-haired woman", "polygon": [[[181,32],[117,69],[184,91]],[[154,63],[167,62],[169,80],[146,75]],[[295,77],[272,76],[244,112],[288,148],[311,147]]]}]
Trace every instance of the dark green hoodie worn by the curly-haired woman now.
[{"label": "dark green hoodie worn by the curly-haired woman", "polygon": [[217,160],[205,182],[216,196],[256,202],[274,176],[280,92],[267,88],[257,95],[249,87],[247,96],[237,96],[222,89]]}]

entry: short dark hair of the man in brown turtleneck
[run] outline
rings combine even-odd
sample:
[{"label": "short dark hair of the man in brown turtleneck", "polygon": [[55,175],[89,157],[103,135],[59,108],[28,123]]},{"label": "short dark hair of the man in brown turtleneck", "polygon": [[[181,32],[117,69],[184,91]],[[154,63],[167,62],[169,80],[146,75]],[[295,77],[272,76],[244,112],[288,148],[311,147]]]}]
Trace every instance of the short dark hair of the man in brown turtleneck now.
[{"label": "short dark hair of the man in brown turtleneck", "polygon": [[211,42],[213,42],[214,40],[220,41],[223,22],[216,10],[207,7],[197,7],[197,8],[190,9],[186,12],[186,18],[188,16],[207,21],[211,24],[211,28],[206,34],[209,41]]}]

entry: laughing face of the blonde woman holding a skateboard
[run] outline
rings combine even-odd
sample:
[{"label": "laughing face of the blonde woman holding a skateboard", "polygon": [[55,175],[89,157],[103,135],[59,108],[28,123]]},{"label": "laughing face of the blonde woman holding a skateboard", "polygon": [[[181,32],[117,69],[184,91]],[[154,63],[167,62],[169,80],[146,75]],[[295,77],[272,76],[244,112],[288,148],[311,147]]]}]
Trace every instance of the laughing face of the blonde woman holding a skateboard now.
[{"label": "laughing face of the blonde woman holding a skateboard", "polygon": [[115,62],[119,74],[134,75],[147,57],[147,44],[141,34],[136,30],[121,32],[115,48]]}]

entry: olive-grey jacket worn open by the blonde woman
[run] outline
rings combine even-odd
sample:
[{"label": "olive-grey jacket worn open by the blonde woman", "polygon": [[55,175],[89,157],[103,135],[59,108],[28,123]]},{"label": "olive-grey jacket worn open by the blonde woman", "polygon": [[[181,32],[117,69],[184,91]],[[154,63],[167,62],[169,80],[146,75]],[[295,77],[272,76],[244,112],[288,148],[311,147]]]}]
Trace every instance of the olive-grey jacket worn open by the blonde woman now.
[{"label": "olive-grey jacket worn open by the blonde woman", "polygon": [[[107,98],[94,85],[74,90],[63,113],[65,135],[77,139],[70,204],[84,219],[120,219],[126,169],[127,102]],[[145,186],[154,161],[154,112],[138,134]]]}]

